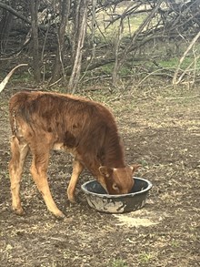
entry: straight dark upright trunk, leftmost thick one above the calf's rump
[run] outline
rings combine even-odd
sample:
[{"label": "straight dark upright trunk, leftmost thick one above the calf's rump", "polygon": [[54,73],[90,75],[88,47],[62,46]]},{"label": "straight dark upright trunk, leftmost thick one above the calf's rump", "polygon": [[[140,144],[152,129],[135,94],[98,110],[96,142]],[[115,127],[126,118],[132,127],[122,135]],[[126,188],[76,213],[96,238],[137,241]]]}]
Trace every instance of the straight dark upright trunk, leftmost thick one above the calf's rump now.
[{"label": "straight dark upright trunk, leftmost thick one above the calf's rump", "polygon": [[40,60],[39,60],[39,44],[38,44],[38,23],[37,23],[37,11],[38,11],[38,0],[30,0],[30,11],[31,11],[31,26],[32,26],[32,38],[33,38],[33,68],[34,77],[37,83],[40,82]]}]

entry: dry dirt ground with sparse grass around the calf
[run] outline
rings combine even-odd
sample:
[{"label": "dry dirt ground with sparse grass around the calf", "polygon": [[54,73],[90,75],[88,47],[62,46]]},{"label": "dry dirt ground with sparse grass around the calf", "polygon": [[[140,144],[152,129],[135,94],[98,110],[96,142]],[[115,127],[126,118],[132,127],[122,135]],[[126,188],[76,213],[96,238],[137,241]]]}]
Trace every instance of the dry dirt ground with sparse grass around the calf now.
[{"label": "dry dirt ground with sparse grass around the calf", "polygon": [[[15,91],[20,90],[16,88]],[[11,211],[7,103],[0,97],[0,266],[195,267],[200,266],[200,93],[197,89],[137,92],[93,98],[112,108],[125,141],[126,161],[142,163],[136,176],[150,180],[145,207],[105,214],[88,207],[81,184],[70,205],[65,190],[71,156],[54,152],[48,170],[55,202],[65,212],[57,221],[25,167],[21,196],[25,216]]]}]

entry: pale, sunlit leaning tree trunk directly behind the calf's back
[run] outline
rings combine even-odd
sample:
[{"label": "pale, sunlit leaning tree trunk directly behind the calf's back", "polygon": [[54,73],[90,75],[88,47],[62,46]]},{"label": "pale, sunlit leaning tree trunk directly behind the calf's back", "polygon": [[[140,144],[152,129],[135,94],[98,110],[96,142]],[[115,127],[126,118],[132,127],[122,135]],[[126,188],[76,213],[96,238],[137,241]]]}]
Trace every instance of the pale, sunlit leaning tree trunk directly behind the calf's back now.
[{"label": "pale, sunlit leaning tree trunk directly behind the calf's back", "polygon": [[82,63],[82,49],[85,41],[85,30],[87,23],[87,5],[88,0],[78,0],[75,3],[74,16],[74,40],[73,40],[73,70],[69,79],[68,89],[75,93],[75,87],[78,84]]}]

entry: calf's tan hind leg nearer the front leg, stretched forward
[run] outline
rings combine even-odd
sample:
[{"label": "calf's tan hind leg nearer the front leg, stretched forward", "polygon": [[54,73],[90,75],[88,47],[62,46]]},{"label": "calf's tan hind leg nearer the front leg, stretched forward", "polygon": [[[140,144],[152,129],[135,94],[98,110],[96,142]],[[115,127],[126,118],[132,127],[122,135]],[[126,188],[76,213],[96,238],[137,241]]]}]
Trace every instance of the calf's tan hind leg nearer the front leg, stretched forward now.
[{"label": "calf's tan hind leg nearer the front leg, stretched forward", "polygon": [[35,151],[33,154],[34,156],[31,166],[31,174],[33,176],[33,179],[35,180],[38,190],[41,192],[45,200],[46,207],[55,215],[55,217],[64,218],[65,215],[63,214],[63,212],[58,210],[55,205],[55,201],[52,198],[52,194],[47,181],[46,172],[49,160],[49,150],[47,150],[46,152],[41,152],[41,150],[39,151],[38,149],[38,151]]}]

